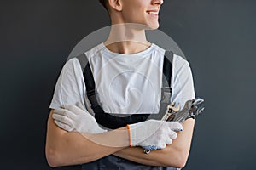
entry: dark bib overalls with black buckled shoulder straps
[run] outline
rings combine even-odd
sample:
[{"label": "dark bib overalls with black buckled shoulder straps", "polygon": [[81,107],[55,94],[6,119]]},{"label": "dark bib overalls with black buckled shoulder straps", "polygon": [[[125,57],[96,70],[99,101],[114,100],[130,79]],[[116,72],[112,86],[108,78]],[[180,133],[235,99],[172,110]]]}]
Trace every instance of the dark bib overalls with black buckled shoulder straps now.
[{"label": "dark bib overalls with black buckled shoulder straps", "polygon": [[[91,109],[95,113],[96,122],[102,125],[102,127],[108,127],[109,129],[116,129],[119,127],[125,127],[127,124],[143,122],[148,119],[158,119],[164,116],[167,105],[170,104],[170,98],[172,94],[171,80],[172,80],[172,57],[171,51],[166,51],[165,59],[163,63],[163,77],[161,88],[161,101],[159,114],[134,114],[131,116],[113,116],[102,110],[101,105],[98,104],[95,81],[90,70],[90,64],[85,54],[80,54],[79,59],[81,68],[84,74],[84,82],[86,86],[86,94],[90,100]],[[175,167],[153,167],[143,165],[134,161],[125,160],[118,156],[106,156],[96,161],[84,163],[82,165],[83,170],[178,170]]]}]

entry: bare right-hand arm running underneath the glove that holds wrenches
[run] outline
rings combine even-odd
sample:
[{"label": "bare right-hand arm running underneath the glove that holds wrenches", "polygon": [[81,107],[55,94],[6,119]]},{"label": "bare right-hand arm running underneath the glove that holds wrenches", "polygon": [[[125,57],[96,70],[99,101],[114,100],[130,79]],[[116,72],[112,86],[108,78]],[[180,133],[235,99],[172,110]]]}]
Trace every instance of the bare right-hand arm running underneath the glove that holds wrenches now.
[{"label": "bare right-hand arm running underneath the glove that holds wrenches", "polygon": [[177,133],[177,139],[164,150],[152,150],[150,154],[144,154],[142,148],[134,147],[119,150],[113,155],[149,166],[184,167],[189,156],[194,124],[192,119],[185,121],[183,132]]}]

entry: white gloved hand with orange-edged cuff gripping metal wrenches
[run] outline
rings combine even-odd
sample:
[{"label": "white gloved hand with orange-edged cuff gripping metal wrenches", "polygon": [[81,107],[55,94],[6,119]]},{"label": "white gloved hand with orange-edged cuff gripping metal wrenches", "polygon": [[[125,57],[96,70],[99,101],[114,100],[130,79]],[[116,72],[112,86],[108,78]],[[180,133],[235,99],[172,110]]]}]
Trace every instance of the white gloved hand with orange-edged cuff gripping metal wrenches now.
[{"label": "white gloved hand with orange-edged cuff gripping metal wrenches", "polygon": [[177,138],[176,131],[182,131],[183,126],[178,122],[148,120],[127,125],[130,135],[130,146],[142,146],[147,150],[160,150],[166,144],[172,144]]}]

